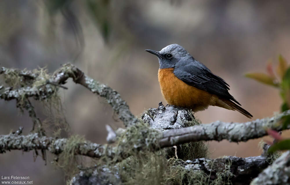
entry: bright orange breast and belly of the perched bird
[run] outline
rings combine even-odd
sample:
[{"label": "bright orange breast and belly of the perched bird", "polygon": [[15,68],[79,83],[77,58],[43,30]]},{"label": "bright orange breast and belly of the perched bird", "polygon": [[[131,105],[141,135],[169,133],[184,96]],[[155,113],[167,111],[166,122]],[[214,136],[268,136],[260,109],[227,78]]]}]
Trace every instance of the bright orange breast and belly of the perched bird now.
[{"label": "bright orange breast and belly of the perched bird", "polygon": [[170,105],[190,108],[193,111],[215,105],[217,97],[207,91],[187,85],[173,74],[174,68],[158,70],[158,80],[164,99]]}]

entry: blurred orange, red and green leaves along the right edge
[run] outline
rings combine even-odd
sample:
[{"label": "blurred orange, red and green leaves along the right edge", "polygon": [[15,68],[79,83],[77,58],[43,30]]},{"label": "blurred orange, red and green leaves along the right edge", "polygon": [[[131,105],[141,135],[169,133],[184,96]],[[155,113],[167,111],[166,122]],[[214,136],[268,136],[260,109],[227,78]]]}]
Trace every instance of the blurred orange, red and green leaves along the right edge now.
[{"label": "blurred orange, red and green leaves along the right edge", "polygon": [[[247,73],[246,77],[257,80],[260,83],[276,87],[280,90],[280,96],[283,100],[281,111],[287,111],[290,107],[290,67],[282,55],[278,57],[278,66],[274,72],[272,63],[267,65],[267,73]],[[283,129],[286,129],[290,123],[290,116],[284,116],[281,119]],[[273,153],[278,150],[289,150],[290,139],[282,139],[280,134],[274,130],[268,130],[268,134],[275,138],[276,142],[271,144],[268,152]]]}]

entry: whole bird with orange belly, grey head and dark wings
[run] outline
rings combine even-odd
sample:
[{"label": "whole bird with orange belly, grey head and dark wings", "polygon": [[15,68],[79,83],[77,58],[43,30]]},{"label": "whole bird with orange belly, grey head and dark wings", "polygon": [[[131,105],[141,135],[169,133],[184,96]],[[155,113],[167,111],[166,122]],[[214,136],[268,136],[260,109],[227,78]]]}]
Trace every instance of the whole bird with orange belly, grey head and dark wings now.
[{"label": "whole bird with orange belly, grey head and dark wings", "polygon": [[182,46],[171,44],[160,51],[145,50],[159,60],[158,81],[169,105],[202,111],[218,106],[253,116],[229,93],[229,84],[196,61]]}]

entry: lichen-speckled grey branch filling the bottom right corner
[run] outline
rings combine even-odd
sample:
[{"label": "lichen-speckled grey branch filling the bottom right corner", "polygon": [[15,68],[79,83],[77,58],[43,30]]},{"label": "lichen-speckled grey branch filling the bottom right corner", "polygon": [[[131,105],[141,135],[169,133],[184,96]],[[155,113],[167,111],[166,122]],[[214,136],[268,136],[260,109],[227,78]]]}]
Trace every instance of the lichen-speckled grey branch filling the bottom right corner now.
[{"label": "lichen-speckled grey branch filling the bottom right corner", "polygon": [[290,184],[290,152],[283,153],[272,165],[262,171],[251,185]]}]

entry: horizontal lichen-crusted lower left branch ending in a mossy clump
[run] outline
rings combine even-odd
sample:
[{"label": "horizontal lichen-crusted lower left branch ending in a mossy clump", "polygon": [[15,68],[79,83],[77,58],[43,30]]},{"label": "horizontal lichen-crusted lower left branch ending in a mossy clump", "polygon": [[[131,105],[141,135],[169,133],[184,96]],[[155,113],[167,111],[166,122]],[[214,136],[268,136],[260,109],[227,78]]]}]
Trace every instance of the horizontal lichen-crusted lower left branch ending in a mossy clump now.
[{"label": "horizontal lichen-crusted lower left branch ending in a mossy clump", "polygon": [[[138,132],[139,134],[136,134]],[[103,158],[104,160],[113,160],[115,162],[126,159],[132,153],[140,150],[151,148],[152,151],[157,150],[157,136],[158,132],[153,129],[148,130],[146,126],[140,128],[129,127],[124,138],[117,146],[110,146],[108,144],[97,144],[89,141],[76,142],[72,138],[55,139],[52,137],[42,136],[39,133],[28,135],[0,135],[0,153],[5,153],[10,150],[48,150],[52,154],[60,154],[65,151],[67,147],[73,151],[74,155],[84,155],[93,158]],[[138,143],[138,142],[140,143]]]}]

